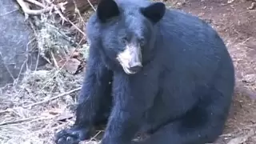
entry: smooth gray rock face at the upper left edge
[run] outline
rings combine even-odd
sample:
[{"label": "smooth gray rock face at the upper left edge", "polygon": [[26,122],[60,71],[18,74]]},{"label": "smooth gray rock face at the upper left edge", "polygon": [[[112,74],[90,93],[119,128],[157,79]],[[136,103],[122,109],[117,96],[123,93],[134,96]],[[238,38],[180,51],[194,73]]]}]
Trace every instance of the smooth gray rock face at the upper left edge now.
[{"label": "smooth gray rock face at the upper left edge", "polygon": [[33,31],[13,0],[0,0],[0,34],[0,86],[5,86],[37,61],[37,54],[28,52]]}]

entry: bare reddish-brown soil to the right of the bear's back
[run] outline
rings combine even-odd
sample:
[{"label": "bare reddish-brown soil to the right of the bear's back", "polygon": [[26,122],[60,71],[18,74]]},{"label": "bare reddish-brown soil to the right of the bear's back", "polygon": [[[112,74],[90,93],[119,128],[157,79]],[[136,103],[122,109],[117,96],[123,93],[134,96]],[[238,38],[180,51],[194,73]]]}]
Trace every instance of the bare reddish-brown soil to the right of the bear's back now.
[{"label": "bare reddish-brown soil to the right of the bear's back", "polygon": [[255,7],[253,3],[187,0],[180,7],[218,30],[234,60],[236,93],[226,130],[218,144],[256,143],[256,10],[250,10]]}]

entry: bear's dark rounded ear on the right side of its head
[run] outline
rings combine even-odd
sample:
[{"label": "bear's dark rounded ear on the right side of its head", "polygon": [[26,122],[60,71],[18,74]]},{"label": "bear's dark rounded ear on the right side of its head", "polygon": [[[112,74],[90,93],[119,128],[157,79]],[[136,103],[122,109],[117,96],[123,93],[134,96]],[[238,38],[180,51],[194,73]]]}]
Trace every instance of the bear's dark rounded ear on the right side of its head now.
[{"label": "bear's dark rounded ear on the right side of its head", "polygon": [[166,6],[162,2],[154,2],[150,6],[143,7],[141,12],[146,18],[149,18],[151,22],[156,23],[160,21],[166,13]]}]

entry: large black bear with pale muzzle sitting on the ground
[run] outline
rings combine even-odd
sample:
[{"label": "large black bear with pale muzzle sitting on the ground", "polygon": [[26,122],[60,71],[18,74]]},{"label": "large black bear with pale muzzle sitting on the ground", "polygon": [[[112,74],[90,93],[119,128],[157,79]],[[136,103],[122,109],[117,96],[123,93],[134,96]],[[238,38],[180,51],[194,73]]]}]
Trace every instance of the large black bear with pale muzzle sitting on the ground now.
[{"label": "large black bear with pale muzzle sitting on the ground", "polygon": [[[224,129],[234,64],[218,33],[162,2],[101,0],[87,25],[90,53],[76,121],[58,144],[205,144]],[[148,138],[133,141],[138,133]]]}]

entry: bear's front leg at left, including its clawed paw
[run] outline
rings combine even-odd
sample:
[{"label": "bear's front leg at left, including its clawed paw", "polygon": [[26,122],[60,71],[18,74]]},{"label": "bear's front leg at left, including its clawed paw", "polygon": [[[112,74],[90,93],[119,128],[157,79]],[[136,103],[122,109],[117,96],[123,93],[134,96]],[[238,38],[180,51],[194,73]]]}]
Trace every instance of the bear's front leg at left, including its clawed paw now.
[{"label": "bear's front leg at left, including its clawed paw", "polygon": [[[111,106],[112,71],[108,70],[96,53],[90,48],[85,80],[78,99],[74,126],[55,135],[57,144],[78,144],[90,138],[91,128],[102,120],[106,107]],[[103,110],[104,109],[104,110]]]}]

